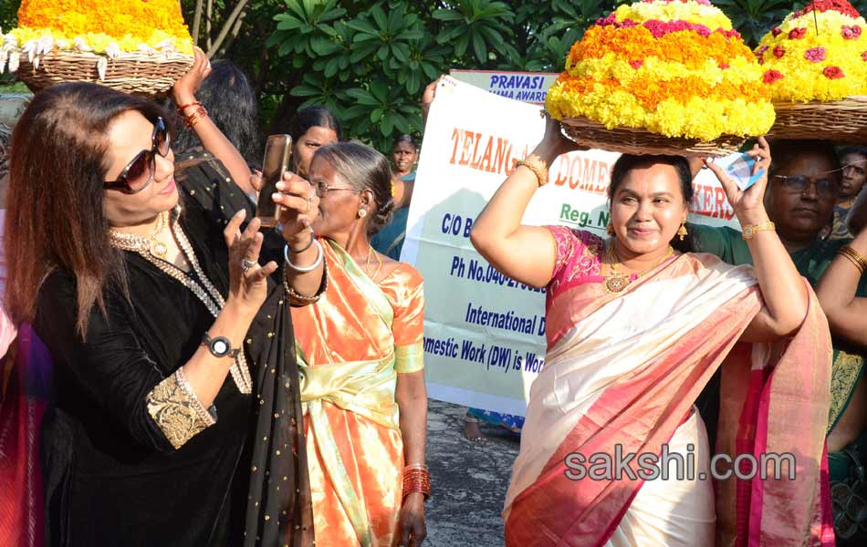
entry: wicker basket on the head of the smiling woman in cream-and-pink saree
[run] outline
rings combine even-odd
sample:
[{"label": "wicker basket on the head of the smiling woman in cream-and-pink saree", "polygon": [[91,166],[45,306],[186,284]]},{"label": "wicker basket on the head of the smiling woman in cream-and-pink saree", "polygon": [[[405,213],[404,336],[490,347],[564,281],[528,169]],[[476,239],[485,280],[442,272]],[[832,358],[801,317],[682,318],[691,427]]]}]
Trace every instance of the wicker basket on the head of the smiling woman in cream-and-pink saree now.
[{"label": "wicker basket on the head of the smiling woman in cream-and-pink saree", "polygon": [[723,135],[710,142],[698,139],[678,139],[651,133],[645,129],[606,129],[601,123],[586,118],[565,118],[560,125],[569,139],[591,149],[624,154],[670,154],[711,158],[736,152],[745,137]]}]

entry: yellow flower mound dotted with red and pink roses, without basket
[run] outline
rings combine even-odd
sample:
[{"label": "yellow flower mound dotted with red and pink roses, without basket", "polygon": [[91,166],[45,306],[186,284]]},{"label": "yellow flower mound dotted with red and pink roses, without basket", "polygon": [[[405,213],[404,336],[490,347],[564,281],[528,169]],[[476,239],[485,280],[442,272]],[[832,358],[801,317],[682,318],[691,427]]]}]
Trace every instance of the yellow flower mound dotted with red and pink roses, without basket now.
[{"label": "yellow flower mound dotted with red and pink roses, without basket", "polygon": [[776,101],[867,94],[867,24],[846,0],[814,0],[759,42],[756,58]]}]

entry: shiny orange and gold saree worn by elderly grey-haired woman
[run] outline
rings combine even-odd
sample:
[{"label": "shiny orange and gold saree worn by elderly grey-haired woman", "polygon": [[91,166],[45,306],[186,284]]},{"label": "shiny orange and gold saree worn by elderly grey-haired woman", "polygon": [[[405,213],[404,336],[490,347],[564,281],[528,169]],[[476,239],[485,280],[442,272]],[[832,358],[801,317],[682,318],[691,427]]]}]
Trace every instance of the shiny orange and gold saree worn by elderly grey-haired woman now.
[{"label": "shiny orange and gold saree worn by elderly grey-haired woman", "polygon": [[292,310],[316,542],[391,546],[403,470],[395,387],[423,369],[422,276],[402,263],[376,284],[322,243],[328,290]]}]

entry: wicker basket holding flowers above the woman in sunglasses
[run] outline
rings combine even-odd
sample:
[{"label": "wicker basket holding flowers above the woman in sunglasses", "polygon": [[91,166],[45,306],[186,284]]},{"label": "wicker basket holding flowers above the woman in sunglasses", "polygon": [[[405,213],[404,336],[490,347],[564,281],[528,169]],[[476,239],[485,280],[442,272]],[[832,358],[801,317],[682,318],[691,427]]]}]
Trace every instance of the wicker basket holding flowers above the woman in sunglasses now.
[{"label": "wicker basket holding flowers above the woman in sunglasses", "polygon": [[[105,77],[99,77],[99,61]],[[193,56],[179,53],[122,53],[110,59],[93,53],[55,51],[39,58],[38,66],[22,56],[18,77],[38,91],[63,82],[91,82],[133,95],[153,97],[172,88],[193,67]]]}]

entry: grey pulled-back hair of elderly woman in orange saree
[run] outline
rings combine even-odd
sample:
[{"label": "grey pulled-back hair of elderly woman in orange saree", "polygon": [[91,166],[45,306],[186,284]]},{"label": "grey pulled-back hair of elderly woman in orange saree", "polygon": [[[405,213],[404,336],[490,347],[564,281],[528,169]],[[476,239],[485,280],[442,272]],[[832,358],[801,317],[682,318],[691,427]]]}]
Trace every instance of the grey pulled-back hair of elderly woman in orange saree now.
[{"label": "grey pulled-back hair of elderly woman in orange saree", "polygon": [[394,211],[394,198],[392,170],[385,156],[359,142],[338,142],[316,150],[313,159],[317,158],[328,161],[340,178],[355,190],[373,192],[376,212],[367,226],[368,235],[388,224]]}]

